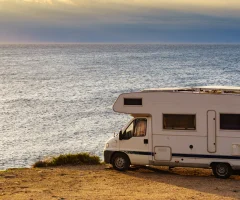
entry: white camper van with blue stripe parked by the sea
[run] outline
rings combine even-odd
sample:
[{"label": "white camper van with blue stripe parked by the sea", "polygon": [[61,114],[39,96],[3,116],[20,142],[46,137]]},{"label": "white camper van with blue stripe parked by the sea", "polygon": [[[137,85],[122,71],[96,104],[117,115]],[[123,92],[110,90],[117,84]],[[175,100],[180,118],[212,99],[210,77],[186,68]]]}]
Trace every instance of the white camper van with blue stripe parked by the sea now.
[{"label": "white camper van with blue stripe parked by the sea", "polygon": [[130,165],[240,169],[240,87],[160,88],[121,94],[113,110],[133,116],[104,148],[117,170]]}]

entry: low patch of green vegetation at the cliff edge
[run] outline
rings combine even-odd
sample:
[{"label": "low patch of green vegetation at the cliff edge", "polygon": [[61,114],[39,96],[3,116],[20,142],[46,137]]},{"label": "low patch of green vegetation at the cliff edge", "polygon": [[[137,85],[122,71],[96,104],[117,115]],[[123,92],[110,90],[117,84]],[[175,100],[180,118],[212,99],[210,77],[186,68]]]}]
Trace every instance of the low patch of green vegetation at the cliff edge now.
[{"label": "low patch of green vegetation at the cliff edge", "polygon": [[100,158],[89,153],[65,154],[48,160],[37,161],[33,167],[49,167],[62,165],[99,165]]}]

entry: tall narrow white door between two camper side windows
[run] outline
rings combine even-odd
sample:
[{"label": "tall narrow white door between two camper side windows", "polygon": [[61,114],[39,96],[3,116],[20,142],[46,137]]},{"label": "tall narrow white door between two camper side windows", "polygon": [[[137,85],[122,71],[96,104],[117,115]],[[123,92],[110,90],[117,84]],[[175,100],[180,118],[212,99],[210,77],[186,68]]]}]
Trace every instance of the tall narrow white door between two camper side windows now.
[{"label": "tall narrow white door between two camper side windows", "polygon": [[216,112],[207,112],[207,148],[209,153],[216,152]]}]

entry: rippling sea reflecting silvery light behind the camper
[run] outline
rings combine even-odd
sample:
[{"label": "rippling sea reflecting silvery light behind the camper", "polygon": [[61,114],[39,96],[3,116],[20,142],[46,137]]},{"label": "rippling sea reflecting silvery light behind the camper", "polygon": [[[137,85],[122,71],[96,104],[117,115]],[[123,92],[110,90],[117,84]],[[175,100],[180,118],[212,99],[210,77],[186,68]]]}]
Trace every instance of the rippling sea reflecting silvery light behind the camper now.
[{"label": "rippling sea reflecting silvery light behind the camper", "polygon": [[88,151],[130,119],[123,92],[240,86],[240,45],[0,45],[0,169]]}]

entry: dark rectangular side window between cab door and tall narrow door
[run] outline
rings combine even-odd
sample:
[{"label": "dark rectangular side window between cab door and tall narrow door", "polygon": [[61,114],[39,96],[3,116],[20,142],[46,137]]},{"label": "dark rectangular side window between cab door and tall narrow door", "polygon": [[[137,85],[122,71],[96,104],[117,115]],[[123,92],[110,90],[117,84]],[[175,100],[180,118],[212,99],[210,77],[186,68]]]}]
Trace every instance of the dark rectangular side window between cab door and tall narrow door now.
[{"label": "dark rectangular side window between cab door and tall narrow door", "polygon": [[163,129],[196,130],[196,115],[163,114]]}]

